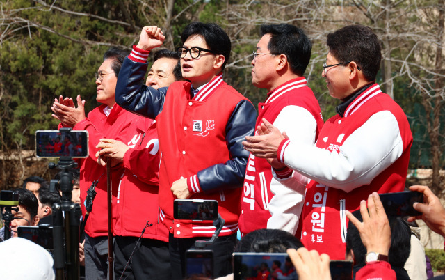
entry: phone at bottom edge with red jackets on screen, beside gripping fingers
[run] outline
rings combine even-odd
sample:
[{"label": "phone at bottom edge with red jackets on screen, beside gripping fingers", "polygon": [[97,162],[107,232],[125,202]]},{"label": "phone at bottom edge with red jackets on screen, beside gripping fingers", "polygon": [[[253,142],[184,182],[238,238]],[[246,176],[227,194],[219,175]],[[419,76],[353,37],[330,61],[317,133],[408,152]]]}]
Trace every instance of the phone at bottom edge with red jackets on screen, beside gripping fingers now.
[{"label": "phone at bottom edge with red jackets on screen, beside gripping fingers", "polygon": [[234,253],[234,280],[298,279],[295,267],[286,253]]}]

